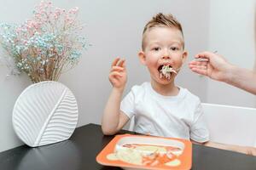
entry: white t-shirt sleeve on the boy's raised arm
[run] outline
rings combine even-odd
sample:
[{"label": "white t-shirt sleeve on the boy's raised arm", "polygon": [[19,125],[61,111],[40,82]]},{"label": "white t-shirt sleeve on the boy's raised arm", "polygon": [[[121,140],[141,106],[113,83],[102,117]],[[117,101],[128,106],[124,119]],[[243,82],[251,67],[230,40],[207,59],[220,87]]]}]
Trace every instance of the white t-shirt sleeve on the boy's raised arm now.
[{"label": "white t-shirt sleeve on the boy's raised arm", "polygon": [[124,112],[125,115],[128,116],[129,118],[131,118],[135,114],[134,100],[135,100],[134,90],[133,88],[131,88],[131,91],[129,92],[129,94],[125,96],[125,98],[121,101],[121,104],[120,104],[120,110]]}]

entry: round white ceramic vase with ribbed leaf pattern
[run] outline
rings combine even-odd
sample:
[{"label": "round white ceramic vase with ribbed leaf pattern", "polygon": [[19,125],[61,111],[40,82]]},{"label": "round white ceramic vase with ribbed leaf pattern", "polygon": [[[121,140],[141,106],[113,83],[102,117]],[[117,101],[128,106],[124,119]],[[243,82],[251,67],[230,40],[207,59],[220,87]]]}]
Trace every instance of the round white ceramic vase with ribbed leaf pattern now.
[{"label": "round white ceramic vase with ribbed leaf pattern", "polygon": [[15,102],[13,126],[27,145],[36,147],[69,139],[79,119],[73,93],[60,82],[27,87]]}]

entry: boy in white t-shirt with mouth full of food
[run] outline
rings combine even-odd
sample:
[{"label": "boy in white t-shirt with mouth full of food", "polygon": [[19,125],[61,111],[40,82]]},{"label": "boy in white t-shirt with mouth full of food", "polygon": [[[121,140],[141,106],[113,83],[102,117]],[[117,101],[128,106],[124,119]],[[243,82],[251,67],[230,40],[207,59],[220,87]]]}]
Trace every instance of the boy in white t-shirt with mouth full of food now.
[{"label": "boy in white t-shirt with mouth full of food", "polygon": [[113,60],[109,73],[113,90],[102,116],[102,132],[117,133],[135,116],[137,133],[190,139],[197,144],[247,153],[246,147],[209,142],[200,99],[174,82],[187,55],[180,23],[171,14],[156,14],[144,27],[142,51],[138,54],[148,67],[151,81],[131,88],[121,102],[127,81],[125,59]]}]

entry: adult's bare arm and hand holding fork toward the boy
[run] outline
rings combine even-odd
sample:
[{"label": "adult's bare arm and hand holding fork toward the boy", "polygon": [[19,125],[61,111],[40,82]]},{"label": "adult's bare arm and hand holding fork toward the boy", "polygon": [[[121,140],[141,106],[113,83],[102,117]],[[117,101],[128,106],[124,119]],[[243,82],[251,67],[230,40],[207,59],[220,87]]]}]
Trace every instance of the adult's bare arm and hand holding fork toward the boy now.
[{"label": "adult's bare arm and hand holding fork toward the boy", "polygon": [[211,52],[196,54],[195,59],[198,58],[208,61],[191,61],[189,68],[192,71],[256,94],[256,72],[231,65],[222,56]]}]

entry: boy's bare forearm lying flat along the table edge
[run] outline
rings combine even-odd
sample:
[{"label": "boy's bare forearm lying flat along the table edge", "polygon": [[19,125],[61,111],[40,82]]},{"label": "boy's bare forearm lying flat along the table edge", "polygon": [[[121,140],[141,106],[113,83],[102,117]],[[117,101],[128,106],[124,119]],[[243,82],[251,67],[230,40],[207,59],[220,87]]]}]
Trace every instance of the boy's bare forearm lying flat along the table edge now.
[{"label": "boy's bare forearm lying flat along the table edge", "polygon": [[240,146],[235,144],[220,144],[220,143],[211,142],[211,141],[208,141],[206,143],[198,143],[193,140],[191,141],[194,144],[203,144],[212,148],[218,148],[221,150],[231,150],[231,151],[236,151],[236,152],[240,152],[240,153],[251,155],[251,156],[256,156],[256,148],[250,147],[250,146]]}]

